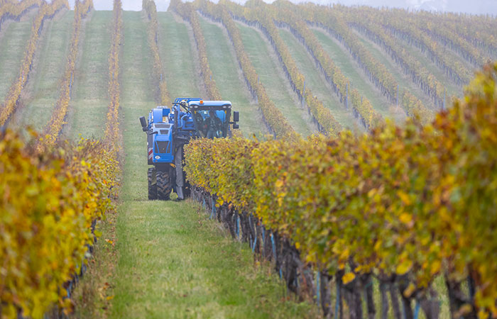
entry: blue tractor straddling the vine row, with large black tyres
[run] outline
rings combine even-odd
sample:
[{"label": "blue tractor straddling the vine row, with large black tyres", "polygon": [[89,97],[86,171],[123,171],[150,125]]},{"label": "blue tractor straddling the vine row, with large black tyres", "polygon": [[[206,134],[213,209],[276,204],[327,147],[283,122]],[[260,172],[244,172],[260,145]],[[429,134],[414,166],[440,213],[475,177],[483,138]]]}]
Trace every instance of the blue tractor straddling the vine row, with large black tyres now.
[{"label": "blue tractor straddling the vine row, with large black tyres", "polygon": [[171,191],[178,199],[190,195],[182,169],[183,147],[192,138],[229,138],[231,125],[239,128],[239,113],[233,112],[230,101],[203,101],[178,98],[173,106],[157,106],[141,116],[140,123],[147,133],[148,199],[167,201]]}]

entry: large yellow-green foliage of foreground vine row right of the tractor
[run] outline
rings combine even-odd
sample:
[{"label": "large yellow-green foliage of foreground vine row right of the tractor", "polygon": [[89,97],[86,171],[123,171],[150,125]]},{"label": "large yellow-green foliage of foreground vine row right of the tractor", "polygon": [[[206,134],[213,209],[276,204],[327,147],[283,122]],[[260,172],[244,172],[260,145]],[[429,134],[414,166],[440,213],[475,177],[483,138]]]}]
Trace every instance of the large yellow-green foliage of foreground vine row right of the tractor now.
[{"label": "large yellow-green foliage of foreground vine row right of the tractor", "polygon": [[[405,298],[433,279],[470,276],[464,309],[497,316],[497,63],[430,125],[386,123],[368,135],[307,140],[195,140],[185,171],[288,237],[344,284],[403,276]],[[229,165],[226,165],[229,163]]]}]

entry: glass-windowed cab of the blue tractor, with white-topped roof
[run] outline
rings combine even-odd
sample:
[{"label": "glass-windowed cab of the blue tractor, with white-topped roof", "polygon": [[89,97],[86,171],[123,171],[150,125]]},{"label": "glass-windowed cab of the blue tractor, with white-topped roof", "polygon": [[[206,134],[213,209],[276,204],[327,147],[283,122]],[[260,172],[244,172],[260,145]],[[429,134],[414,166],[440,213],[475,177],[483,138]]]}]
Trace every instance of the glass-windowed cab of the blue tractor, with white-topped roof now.
[{"label": "glass-windowed cab of the blue tractor, with white-topped roof", "polygon": [[197,135],[200,138],[226,138],[229,135],[229,124],[238,128],[238,112],[234,112],[234,121],[230,123],[230,101],[190,101],[190,112]]}]

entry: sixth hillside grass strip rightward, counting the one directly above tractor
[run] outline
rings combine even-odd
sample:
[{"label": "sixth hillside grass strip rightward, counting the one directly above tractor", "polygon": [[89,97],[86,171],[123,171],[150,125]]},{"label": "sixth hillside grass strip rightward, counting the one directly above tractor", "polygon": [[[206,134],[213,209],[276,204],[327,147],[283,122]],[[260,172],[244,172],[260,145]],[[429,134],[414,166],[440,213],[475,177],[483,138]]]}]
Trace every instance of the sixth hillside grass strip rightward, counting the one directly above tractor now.
[{"label": "sixth hillside grass strip rightward, counting the one directly above tractor", "polygon": [[[390,56],[386,55],[380,47],[372,43],[361,33],[356,32],[357,37],[361,41],[361,43],[368,49],[368,51],[376,58],[379,62],[381,62],[385,67],[390,71],[395,81],[399,86],[399,93],[402,94],[404,89],[410,91],[411,94],[414,94],[417,99],[420,99],[427,108],[433,108],[433,102],[423,93],[423,91],[411,81],[410,77],[403,74],[402,69],[395,64],[395,62],[391,59]],[[399,96],[401,99],[401,96]]]}]

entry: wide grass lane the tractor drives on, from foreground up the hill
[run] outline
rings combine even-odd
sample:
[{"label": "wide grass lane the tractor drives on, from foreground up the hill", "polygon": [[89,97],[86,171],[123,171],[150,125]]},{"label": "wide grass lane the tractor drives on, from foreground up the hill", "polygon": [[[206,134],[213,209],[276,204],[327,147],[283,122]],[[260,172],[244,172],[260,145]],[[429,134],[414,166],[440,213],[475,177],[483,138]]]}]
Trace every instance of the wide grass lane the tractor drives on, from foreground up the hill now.
[{"label": "wide grass lane the tractor drives on, from foreground up the hill", "polygon": [[[249,247],[226,237],[220,225],[208,220],[196,203],[146,200],[146,136],[138,116],[146,115],[154,105],[148,76],[152,60],[143,14],[125,11],[123,20],[121,129],[125,164],[116,223],[119,261],[112,284],[111,317],[308,316],[315,307],[281,301],[281,281],[253,267]],[[195,86],[192,83],[187,85]]]}]

